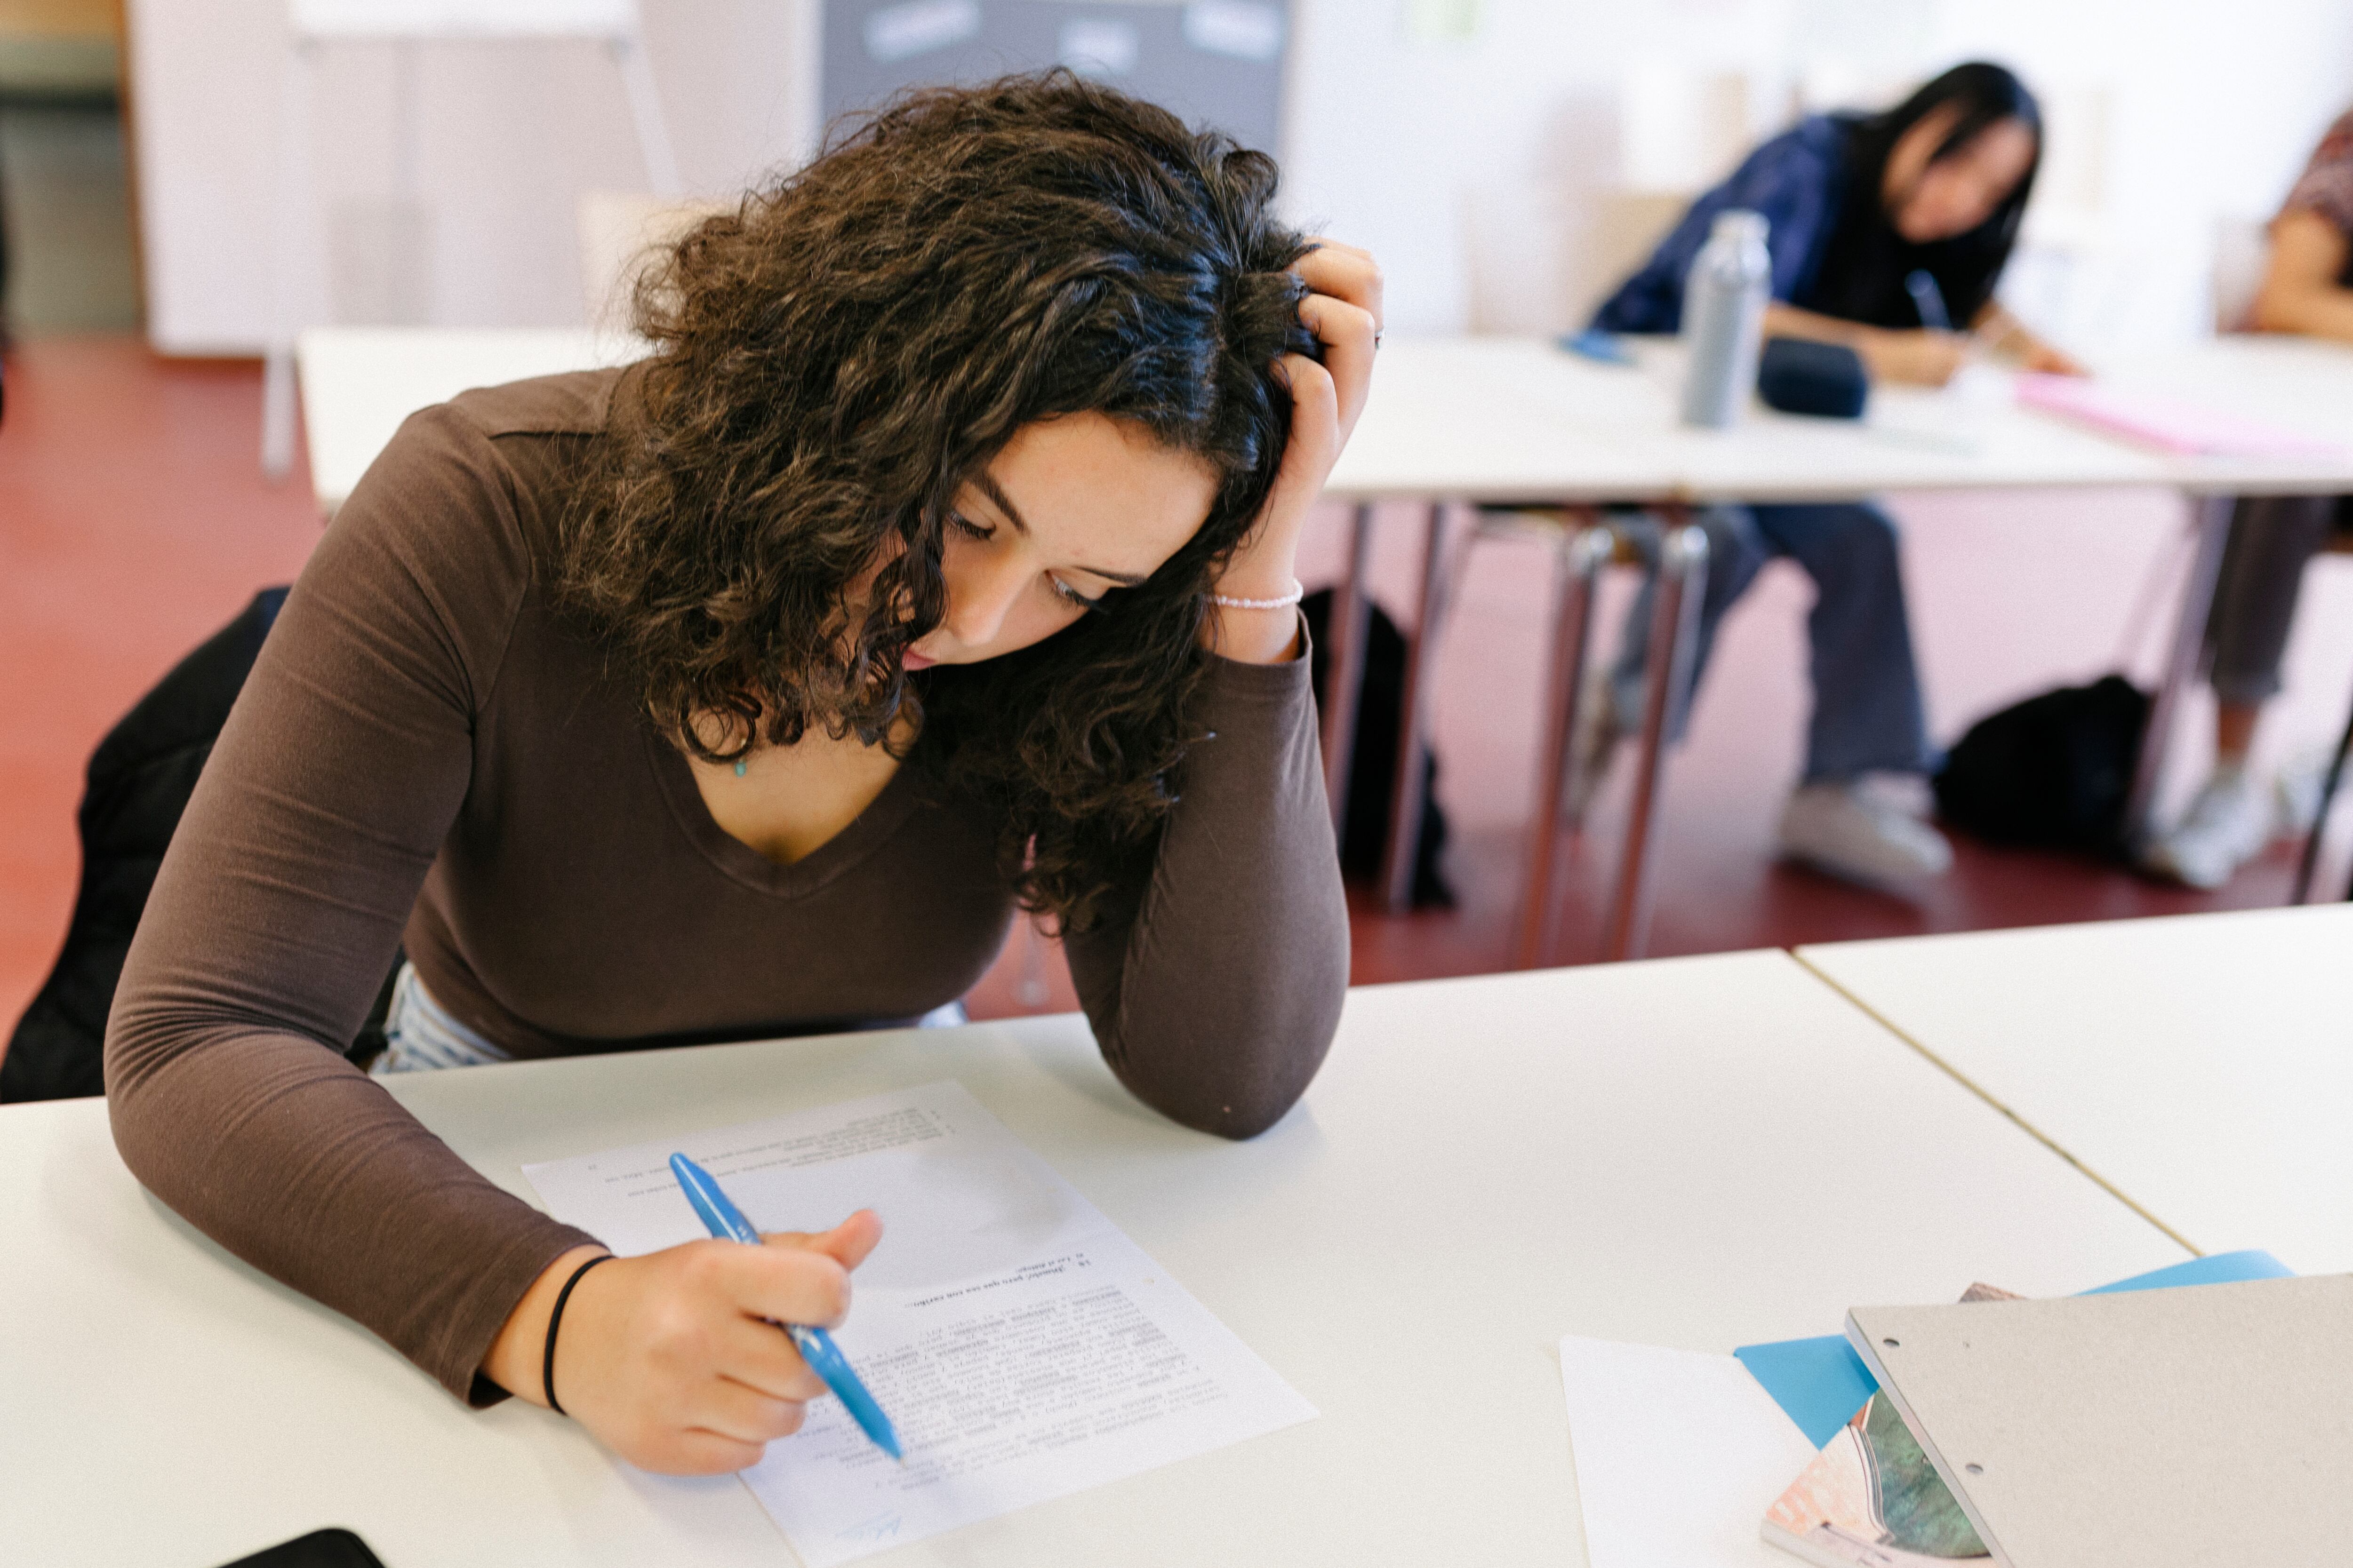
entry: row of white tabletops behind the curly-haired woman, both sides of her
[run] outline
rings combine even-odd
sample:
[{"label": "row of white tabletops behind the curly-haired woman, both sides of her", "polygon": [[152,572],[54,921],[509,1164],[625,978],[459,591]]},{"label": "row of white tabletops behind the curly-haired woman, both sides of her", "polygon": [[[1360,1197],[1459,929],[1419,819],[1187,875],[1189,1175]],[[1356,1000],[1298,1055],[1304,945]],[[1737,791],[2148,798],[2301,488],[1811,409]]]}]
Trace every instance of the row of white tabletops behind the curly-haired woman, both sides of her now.
[{"label": "row of white tabletops behind the curly-haired woman, both sides of her", "polygon": [[[315,327],[301,334],[311,484],[332,512],[400,421],[473,386],[626,364],[628,336],[536,327]],[[1325,489],[1337,501],[1842,501],[1899,489],[2172,484],[2315,491],[2353,458],[2174,458],[2024,409],[1880,388],[1861,423],[1758,411],[1675,423],[1675,355],[1593,364],[1544,339],[1391,339],[1374,400]],[[2353,350],[2221,339],[2104,367],[2127,390],[2209,402],[2353,442]]]}]

